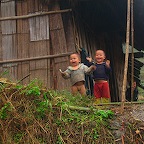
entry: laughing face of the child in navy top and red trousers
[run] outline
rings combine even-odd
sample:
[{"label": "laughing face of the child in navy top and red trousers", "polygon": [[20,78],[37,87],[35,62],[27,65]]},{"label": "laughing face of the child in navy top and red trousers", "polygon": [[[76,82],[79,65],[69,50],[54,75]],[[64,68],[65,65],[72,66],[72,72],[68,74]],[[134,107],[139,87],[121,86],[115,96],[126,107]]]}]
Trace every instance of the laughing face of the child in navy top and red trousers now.
[{"label": "laughing face of the child in navy top and red trousers", "polygon": [[105,60],[105,53],[103,50],[97,50],[95,59],[97,63],[102,63]]}]

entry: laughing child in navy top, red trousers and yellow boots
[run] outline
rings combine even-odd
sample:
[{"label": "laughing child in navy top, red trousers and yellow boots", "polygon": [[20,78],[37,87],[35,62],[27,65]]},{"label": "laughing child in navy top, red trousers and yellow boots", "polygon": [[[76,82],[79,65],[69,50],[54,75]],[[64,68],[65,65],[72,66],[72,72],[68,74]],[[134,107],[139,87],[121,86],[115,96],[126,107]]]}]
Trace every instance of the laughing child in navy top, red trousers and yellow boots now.
[{"label": "laughing child in navy top, red trousers and yellow boots", "polygon": [[[94,96],[97,103],[106,103],[110,101],[109,90],[109,74],[111,71],[110,61],[105,61],[105,52],[103,50],[96,50],[95,54],[95,70],[93,71],[94,84]],[[91,61],[91,58],[87,58]]]}]

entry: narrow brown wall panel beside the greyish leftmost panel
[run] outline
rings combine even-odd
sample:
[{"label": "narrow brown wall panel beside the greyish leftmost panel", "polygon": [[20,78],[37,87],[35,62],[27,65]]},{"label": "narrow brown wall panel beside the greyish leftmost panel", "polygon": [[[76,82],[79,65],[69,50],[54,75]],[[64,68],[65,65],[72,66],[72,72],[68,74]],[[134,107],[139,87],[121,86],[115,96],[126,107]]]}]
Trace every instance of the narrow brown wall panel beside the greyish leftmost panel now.
[{"label": "narrow brown wall panel beside the greyish leftmost panel", "polygon": [[[17,15],[27,15],[28,14],[28,2],[19,1],[17,2]],[[17,41],[18,41],[18,59],[29,57],[29,27],[27,19],[17,20]],[[21,62],[18,64],[18,79],[22,79],[29,74],[29,62]],[[21,83],[28,84],[29,77],[24,79]]]}]

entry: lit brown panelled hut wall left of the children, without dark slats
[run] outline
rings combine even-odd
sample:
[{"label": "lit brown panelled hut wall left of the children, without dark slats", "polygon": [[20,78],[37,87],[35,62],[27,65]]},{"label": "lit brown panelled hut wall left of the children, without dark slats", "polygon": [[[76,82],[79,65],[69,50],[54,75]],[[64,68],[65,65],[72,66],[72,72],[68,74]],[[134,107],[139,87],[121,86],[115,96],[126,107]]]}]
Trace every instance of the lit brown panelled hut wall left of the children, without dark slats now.
[{"label": "lit brown panelled hut wall left of the children, without dark slats", "polygon": [[[28,16],[60,9],[57,4],[42,4],[39,0],[3,0],[0,4],[2,18]],[[66,33],[70,35],[72,29]],[[61,13],[0,21],[0,41],[1,62],[59,55],[75,50],[74,45],[70,45],[71,39],[66,40]],[[72,47],[70,48],[70,46]],[[0,68],[1,73],[9,70],[9,75],[5,75],[5,77],[15,81],[30,74],[22,81],[22,84],[28,84],[37,78],[48,88],[69,89],[69,81],[63,80],[59,73],[59,69],[65,70],[68,64],[68,56],[64,56],[1,64]]]}]

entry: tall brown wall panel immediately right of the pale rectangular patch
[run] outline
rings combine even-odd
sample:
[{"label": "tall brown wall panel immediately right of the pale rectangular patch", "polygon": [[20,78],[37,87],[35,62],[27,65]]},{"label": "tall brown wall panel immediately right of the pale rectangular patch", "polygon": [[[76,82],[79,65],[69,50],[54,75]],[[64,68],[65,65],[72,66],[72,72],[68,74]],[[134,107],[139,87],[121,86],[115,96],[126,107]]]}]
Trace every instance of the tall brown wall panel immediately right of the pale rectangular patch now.
[{"label": "tall brown wall panel immediately right of the pale rectangular patch", "polygon": [[[59,10],[58,3],[55,3],[51,10]],[[51,46],[52,53],[63,53],[67,52],[65,32],[63,29],[63,21],[61,14],[50,15],[50,37],[51,37]],[[66,61],[64,63],[64,61]],[[55,89],[66,89],[69,88],[69,82],[61,77],[59,69],[66,69],[68,66],[68,58],[55,58],[53,61],[53,88]]]}]

